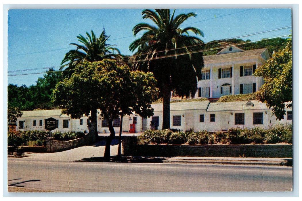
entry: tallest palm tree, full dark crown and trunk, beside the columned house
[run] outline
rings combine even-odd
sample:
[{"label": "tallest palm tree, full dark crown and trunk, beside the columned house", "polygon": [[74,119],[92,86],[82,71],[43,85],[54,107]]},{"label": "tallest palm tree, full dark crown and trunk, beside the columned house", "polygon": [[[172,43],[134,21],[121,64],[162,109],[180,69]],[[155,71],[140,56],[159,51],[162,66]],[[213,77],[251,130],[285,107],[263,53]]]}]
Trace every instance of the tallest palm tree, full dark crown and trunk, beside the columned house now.
[{"label": "tallest palm tree, full dark crown and trunk, beside the columned house", "polygon": [[169,9],[146,9],[143,19],[151,19],[156,26],[140,23],[133,27],[134,36],[140,31],[143,35],[130,44],[134,54],[134,69],[153,72],[163,97],[162,129],[170,128],[171,91],[181,97],[194,96],[197,82],[201,80],[201,69],[204,67],[201,44],[203,41],[189,36],[191,31],[204,36],[195,27],[180,28],[181,24],[195,13],[179,14],[174,18],[175,10],[170,15]]}]

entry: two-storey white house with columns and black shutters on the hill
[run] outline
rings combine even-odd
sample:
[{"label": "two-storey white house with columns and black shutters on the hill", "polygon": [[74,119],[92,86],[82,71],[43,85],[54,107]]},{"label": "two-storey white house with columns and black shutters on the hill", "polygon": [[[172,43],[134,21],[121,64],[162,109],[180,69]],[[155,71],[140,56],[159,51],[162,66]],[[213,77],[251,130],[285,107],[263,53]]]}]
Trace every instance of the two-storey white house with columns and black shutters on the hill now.
[{"label": "two-storey white house with columns and black shutters on the hill", "polygon": [[252,74],[268,58],[266,48],[244,51],[236,46],[228,46],[216,55],[204,56],[202,77],[194,98],[219,98],[258,91],[263,79]]}]

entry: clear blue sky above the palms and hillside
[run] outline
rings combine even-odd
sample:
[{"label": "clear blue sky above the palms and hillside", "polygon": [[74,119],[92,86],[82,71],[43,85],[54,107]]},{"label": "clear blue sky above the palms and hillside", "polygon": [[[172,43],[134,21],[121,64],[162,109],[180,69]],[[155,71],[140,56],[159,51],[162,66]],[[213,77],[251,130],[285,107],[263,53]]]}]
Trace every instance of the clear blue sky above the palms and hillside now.
[{"label": "clear blue sky above the palms and hillside", "polygon": [[[192,7],[193,8],[193,7]],[[8,75],[45,72],[60,65],[66,52],[79,43],[76,36],[103,28],[124,55],[132,55],[129,45],[135,39],[132,28],[143,20],[143,9],[10,9],[8,10]],[[183,28],[193,26],[204,32],[204,42],[291,26],[291,9],[176,9],[176,14],[195,12]],[[252,41],[289,35],[292,29],[242,37]],[[139,37],[140,35],[137,35]],[[35,69],[33,71],[20,71]],[[55,68],[58,70],[59,68]],[[10,72],[16,71],[16,72]],[[43,74],[8,76],[8,83],[36,84]]]}]

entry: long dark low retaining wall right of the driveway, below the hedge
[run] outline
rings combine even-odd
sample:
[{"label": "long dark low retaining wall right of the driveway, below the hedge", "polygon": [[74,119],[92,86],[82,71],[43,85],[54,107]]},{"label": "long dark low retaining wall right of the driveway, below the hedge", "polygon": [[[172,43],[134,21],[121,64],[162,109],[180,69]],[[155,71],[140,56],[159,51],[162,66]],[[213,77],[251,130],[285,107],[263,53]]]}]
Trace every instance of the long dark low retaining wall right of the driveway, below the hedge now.
[{"label": "long dark low retaining wall right of the driveway, below the hedge", "polygon": [[137,145],[123,139],[124,155],[292,158],[292,145]]}]

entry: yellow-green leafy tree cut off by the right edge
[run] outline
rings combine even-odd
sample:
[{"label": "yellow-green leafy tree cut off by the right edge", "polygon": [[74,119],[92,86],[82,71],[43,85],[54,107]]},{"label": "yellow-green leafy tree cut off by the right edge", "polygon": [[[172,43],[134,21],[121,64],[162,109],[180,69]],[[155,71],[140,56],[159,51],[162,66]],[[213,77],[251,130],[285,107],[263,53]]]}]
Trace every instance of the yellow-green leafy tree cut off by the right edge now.
[{"label": "yellow-green leafy tree cut off by the right edge", "polygon": [[292,42],[288,39],[285,49],[272,55],[265,64],[255,70],[255,76],[264,78],[264,85],[256,93],[261,102],[272,107],[276,119],[285,115],[285,107],[291,107],[292,92]]}]

